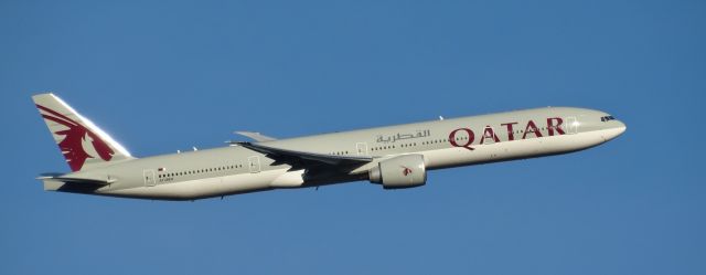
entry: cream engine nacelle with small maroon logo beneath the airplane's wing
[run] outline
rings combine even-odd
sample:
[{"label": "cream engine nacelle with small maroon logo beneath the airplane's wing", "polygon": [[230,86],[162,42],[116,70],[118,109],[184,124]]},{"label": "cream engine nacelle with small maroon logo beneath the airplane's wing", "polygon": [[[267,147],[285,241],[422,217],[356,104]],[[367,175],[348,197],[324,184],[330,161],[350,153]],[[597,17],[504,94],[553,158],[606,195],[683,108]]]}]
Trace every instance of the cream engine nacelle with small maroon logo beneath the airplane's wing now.
[{"label": "cream engine nacelle with small maroon logo beneath the airplane's wing", "polygon": [[427,182],[424,156],[405,155],[386,159],[368,171],[371,182],[385,189],[420,187]]}]

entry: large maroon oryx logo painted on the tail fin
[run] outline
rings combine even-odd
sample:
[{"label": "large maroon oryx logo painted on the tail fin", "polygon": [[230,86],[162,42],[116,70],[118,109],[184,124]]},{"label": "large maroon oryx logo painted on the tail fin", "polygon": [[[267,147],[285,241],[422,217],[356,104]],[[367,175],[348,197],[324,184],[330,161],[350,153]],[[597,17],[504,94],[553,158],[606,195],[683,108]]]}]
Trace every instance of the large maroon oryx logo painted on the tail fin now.
[{"label": "large maroon oryx logo painted on the tail fin", "polygon": [[[66,126],[68,129],[54,131],[54,134],[60,136],[65,136],[64,139],[58,142],[58,148],[62,150],[64,158],[68,162],[68,167],[71,167],[72,171],[78,171],[86,162],[87,158],[96,158],[100,157],[100,159],[108,161],[113,158],[115,151],[110,149],[108,144],[100,139],[98,135],[90,131],[79,123],[47,107],[36,105],[40,110],[45,112],[46,114],[42,114],[42,117],[45,119],[52,120],[54,123]],[[87,137],[87,138],[86,138]],[[90,145],[93,145],[95,151],[98,156],[90,156],[84,149],[83,142],[89,139]]]}]

